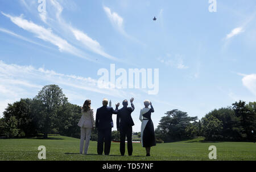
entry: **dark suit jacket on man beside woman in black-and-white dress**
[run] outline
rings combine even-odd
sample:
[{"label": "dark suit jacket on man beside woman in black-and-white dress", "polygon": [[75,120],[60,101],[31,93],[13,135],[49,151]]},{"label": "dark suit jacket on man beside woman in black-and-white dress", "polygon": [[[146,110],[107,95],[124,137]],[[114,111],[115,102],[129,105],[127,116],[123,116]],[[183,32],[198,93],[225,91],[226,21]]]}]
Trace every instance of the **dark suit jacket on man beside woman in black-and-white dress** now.
[{"label": "dark suit jacket on man beside woman in black-and-white dress", "polygon": [[134,111],[134,105],[131,107],[117,110],[117,128],[131,127],[134,126],[133,118],[131,113]]}]

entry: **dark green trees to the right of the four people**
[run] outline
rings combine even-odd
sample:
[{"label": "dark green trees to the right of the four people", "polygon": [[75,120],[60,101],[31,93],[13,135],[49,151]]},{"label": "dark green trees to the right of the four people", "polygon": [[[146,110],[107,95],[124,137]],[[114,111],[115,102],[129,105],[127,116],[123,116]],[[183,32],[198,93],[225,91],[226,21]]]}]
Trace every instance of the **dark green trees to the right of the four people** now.
[{"label": "dark green trees to the right of the four people", "polygon": [[255,141],[256,102],[239,101],[227,108],[214,109],[198,120],[186,112],[167,111],[155,130],[164,142],[204,136],[206,141]]}]

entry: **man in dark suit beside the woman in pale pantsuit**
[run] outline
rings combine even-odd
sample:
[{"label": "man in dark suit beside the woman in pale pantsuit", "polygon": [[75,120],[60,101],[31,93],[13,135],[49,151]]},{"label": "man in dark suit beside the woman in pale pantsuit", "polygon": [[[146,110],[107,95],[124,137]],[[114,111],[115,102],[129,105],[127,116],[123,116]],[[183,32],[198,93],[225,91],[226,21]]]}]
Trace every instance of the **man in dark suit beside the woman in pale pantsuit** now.
[{"label": "man in dark suit beside the woman in pale pantsuit", "polygon": [[[117,114],[117,111],[112,107],[107,106],[108,100],[106,98],[102,101],[102,105],[101,108],[97,109],[96,113],[96,127],[98,128],[97,153],[102,154],[103,144],[105,143],[104,154],[108,155],[110,152],[113,127],[112,114]],[[119,103],[115,105],[116,109],[118,109],[118,106]]]}]

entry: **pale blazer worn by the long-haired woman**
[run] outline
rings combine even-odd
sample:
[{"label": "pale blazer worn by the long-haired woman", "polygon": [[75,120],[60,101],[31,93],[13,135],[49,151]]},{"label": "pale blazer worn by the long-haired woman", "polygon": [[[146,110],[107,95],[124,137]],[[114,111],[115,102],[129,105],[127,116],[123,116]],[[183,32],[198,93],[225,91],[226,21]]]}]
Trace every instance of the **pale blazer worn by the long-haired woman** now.
[{"label": "pale blazer worn by the long-haired woman", "polygon": [[90,109],[86,112],[81,110],[82,117],[79,120],[77,126],[84,127],[84,128],[93,128],[94,125],[94,117],[93,117],[93,109]]}]

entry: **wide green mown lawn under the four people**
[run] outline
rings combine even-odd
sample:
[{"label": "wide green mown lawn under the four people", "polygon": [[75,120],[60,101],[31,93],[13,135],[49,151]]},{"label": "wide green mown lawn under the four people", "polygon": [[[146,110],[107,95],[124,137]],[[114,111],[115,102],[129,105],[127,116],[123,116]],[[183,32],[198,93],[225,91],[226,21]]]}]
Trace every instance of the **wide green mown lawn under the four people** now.
[{"label": "wide green mown lawn under the four people", "polygon": [[[110,155],[97,155],[97,142],[90,141],[87,155],[79,154],[79,139],[50,136],[49,139],[1,139],[0,160],[38,160],[38,147],[46,147],[46,160],[106,160],[106,161],[179,161],[209,160],[208,148],[217,147],[217,160],[256,160],[256,144],[245,142],[202,142],[202,138],[175,143],[157,144],[151,148],[151,156],[139,143],[133,144],[133,156],[120,156],[119,143],[112,143]],[[212,161],[212,160],[211,160]]]}]

